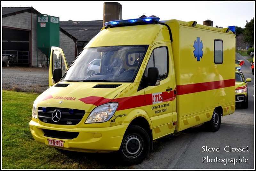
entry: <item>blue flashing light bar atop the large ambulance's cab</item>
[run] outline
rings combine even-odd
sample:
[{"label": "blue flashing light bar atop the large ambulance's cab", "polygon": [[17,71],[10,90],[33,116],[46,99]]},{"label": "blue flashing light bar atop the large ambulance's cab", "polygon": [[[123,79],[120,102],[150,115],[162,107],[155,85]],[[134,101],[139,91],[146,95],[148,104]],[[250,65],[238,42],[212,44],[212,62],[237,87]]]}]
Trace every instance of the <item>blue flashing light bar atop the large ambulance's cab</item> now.
[{"label": "blue flashing light bar atop the large ambulance's cab", "polygon": [[105,23],[105,26],[115,26],[115,25],[124,25],[124,24],[131,24],[131,23],[155,23],[159,21],[160,18],[158,17],[147,17],[147,18],[138,18],[138,19],[125,19],[125,20],[116,20],[116,21],[109,21]]}]

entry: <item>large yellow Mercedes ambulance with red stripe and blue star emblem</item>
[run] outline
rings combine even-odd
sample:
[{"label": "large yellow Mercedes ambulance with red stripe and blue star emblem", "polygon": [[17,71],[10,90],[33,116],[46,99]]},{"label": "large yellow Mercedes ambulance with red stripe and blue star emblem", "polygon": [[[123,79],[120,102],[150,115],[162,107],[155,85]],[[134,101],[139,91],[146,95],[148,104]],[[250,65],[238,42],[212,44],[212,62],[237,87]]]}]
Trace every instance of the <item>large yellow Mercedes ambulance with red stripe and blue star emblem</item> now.
[{"label": "large yellow Mercedes ambulance with red stripe and blue star emblem", "polygon": [[[235,35],[229,28],[156,16],[105,23],[71,66],[52,47],[49,89],[29,123],[36,141],[117,152],[138,164],[153,140],[235,112]],[[100,72],[88,75],[94,59]],[[66,71],[67,70],[67,71]]]}]

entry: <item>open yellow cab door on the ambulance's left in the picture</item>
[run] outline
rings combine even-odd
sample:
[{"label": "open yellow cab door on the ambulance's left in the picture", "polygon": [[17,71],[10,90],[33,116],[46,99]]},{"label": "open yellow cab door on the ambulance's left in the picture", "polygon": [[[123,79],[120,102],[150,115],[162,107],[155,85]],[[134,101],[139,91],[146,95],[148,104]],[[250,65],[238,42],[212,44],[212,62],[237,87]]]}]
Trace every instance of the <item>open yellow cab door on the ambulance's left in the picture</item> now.
[{"label": "open yellow cab door on the ambulance's left in the picture", "polygon": [[53,70],[55,68],[61,68],[62,76],[68,70],[68,63],[65,58],[64,52],[59,47],[52,46],[50,55],[50,65],[49,65],[49,87],[53,86],[56,82],[53,81]]}]

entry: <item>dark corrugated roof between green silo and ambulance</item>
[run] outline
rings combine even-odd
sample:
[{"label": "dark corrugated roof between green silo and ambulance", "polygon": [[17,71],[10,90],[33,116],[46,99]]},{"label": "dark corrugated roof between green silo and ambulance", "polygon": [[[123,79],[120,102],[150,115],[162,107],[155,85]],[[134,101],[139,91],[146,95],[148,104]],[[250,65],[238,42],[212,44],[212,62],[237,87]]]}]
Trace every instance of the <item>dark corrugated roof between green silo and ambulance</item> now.
[{"label": "dark corrugated roof between green silo and ambulance", "polygon": [[60,27],[78,41],[89,42],[102,28],[103,20],[96,21],[60,21]]}]

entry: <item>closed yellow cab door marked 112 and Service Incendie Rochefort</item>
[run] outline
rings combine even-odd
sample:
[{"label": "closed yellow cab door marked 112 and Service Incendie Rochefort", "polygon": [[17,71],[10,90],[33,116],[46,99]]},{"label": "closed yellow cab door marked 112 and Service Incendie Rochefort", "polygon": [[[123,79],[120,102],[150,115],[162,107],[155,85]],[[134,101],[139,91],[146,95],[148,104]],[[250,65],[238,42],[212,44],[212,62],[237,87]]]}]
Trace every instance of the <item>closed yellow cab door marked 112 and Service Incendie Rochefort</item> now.
[{"label": "closed yellow cab door marked 112 and Service Incendie Rochefort", "polygon": [[160,77],[160,85],[144,89],[145,111],[152,122],[153,139],[173,133],[175,129],[172,125],[176,121],[175,77],[169,48],[169,43],[154,45],[145,70],[147,72],[147,68],[157,67]]}]

